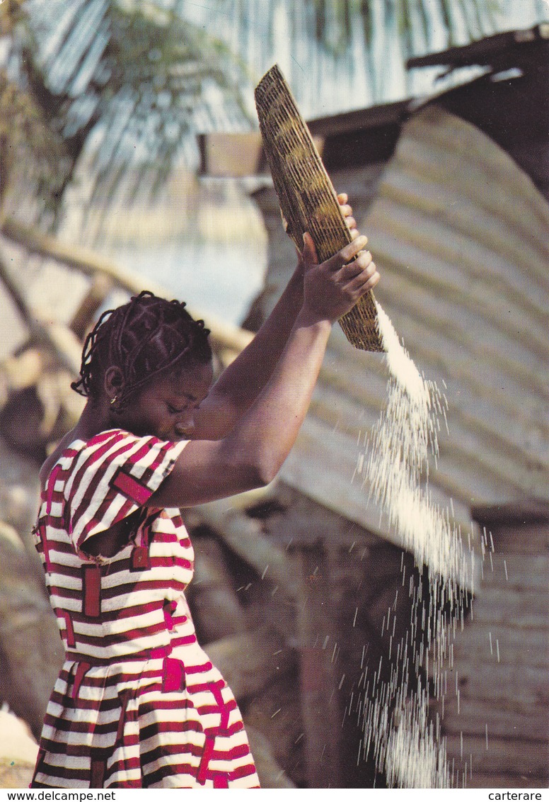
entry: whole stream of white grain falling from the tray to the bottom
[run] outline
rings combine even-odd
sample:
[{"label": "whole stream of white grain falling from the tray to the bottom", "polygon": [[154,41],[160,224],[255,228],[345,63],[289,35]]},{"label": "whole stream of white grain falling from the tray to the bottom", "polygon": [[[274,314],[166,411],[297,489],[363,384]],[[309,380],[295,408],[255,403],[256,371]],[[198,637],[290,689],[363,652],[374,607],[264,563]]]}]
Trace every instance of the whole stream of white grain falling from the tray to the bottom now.
[{"label": "whole stream of white grain falling from the tray to the bottom", "polygon": [[[355,475],[387,516],[403,549],[414,555],[419,569],[427,568],[427,587],[421,580],[418,587],[410,581],[411,624],[391,650],[391,679],[383,682],[378,675],[361,699],[363,756],[373,756],[390,788],[449,788],[456,780],[447,766],[439,719],[436,725],[429,719],[429,697],[434,693],[443,711],[453,634],[456,623],[463,622],[463,588],[472,589],[473,559],[463,549],[450,512],[432,500],[427,482],[429,453],[435,460],[439,454],[438,415],[446,418],[446,399],[419,374],[391,320],[375,303],[390,372],[388,399],[359,454]],[[421,676],[429,678],[430,687]],[[455,693],[459,705],[457,677]]]}]

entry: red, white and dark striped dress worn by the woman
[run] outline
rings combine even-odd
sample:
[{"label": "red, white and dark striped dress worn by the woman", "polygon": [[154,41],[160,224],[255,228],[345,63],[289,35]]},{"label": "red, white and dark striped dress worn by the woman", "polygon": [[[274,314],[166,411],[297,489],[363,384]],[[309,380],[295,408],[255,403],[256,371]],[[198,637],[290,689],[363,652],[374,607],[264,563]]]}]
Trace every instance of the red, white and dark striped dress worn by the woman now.
[{"label": "red, white and dark striped dress worn by the woman", "polygon": [[[194,634],[179,510],[143,506],[185,445],[111,429],[50,472],[34,538],[66,659],[31,788],[258,788],[234,696]],[[114,557],[82,551],[128,516]]]}]

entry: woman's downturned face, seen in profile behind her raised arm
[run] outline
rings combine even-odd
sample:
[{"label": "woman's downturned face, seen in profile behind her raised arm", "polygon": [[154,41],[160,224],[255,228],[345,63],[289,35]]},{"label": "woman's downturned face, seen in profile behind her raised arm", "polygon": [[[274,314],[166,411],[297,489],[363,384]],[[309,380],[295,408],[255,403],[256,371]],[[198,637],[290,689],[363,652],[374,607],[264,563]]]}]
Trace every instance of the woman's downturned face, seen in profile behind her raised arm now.
[{"label": "woman's downturned face, seen in profile behind her raised arm", "polygon": [[176,375],[154,377],[130,396],[113,421],[134,435],[162,440],[192,439],[194,415],[208,395],[213,379],[211,363],[193,364]]}]

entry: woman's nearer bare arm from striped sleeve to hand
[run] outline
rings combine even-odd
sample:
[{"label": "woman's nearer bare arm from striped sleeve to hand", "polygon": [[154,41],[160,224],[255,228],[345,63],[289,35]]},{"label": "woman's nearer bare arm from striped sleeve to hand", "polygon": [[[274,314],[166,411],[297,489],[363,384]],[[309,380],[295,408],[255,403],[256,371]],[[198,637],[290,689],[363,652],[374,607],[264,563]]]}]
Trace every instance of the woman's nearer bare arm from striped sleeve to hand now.
[{"label": "woman's nearer bare arm from striped sleeve to hand", "polygon": [[307,414],[331,324],[379,281],[371,255],[359,253],[365,237],[323,265],[315,264],[306,237],[303,305],[270,379],[226,437],[187,444],[150,505],[185,507],[231,496],[267,484],[281,468]]}]

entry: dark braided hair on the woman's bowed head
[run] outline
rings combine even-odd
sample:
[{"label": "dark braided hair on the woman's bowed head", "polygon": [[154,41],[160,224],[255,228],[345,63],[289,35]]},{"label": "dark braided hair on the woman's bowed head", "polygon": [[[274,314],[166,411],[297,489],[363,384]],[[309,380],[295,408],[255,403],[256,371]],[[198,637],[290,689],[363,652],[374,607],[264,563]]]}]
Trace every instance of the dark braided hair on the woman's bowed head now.
[{"label": "dark braided hair on the woman's bowed head", "polygon": [[185,303],[166,301],[143,290],[130,302],[103,312],[87,335],[82,350],[80,377],[70,387],[80,395],[98,398],[107,368],[118,367],[121,408],[130,393],[168,368],[206,364],[212,358],[210,330],[194,320]]}]

